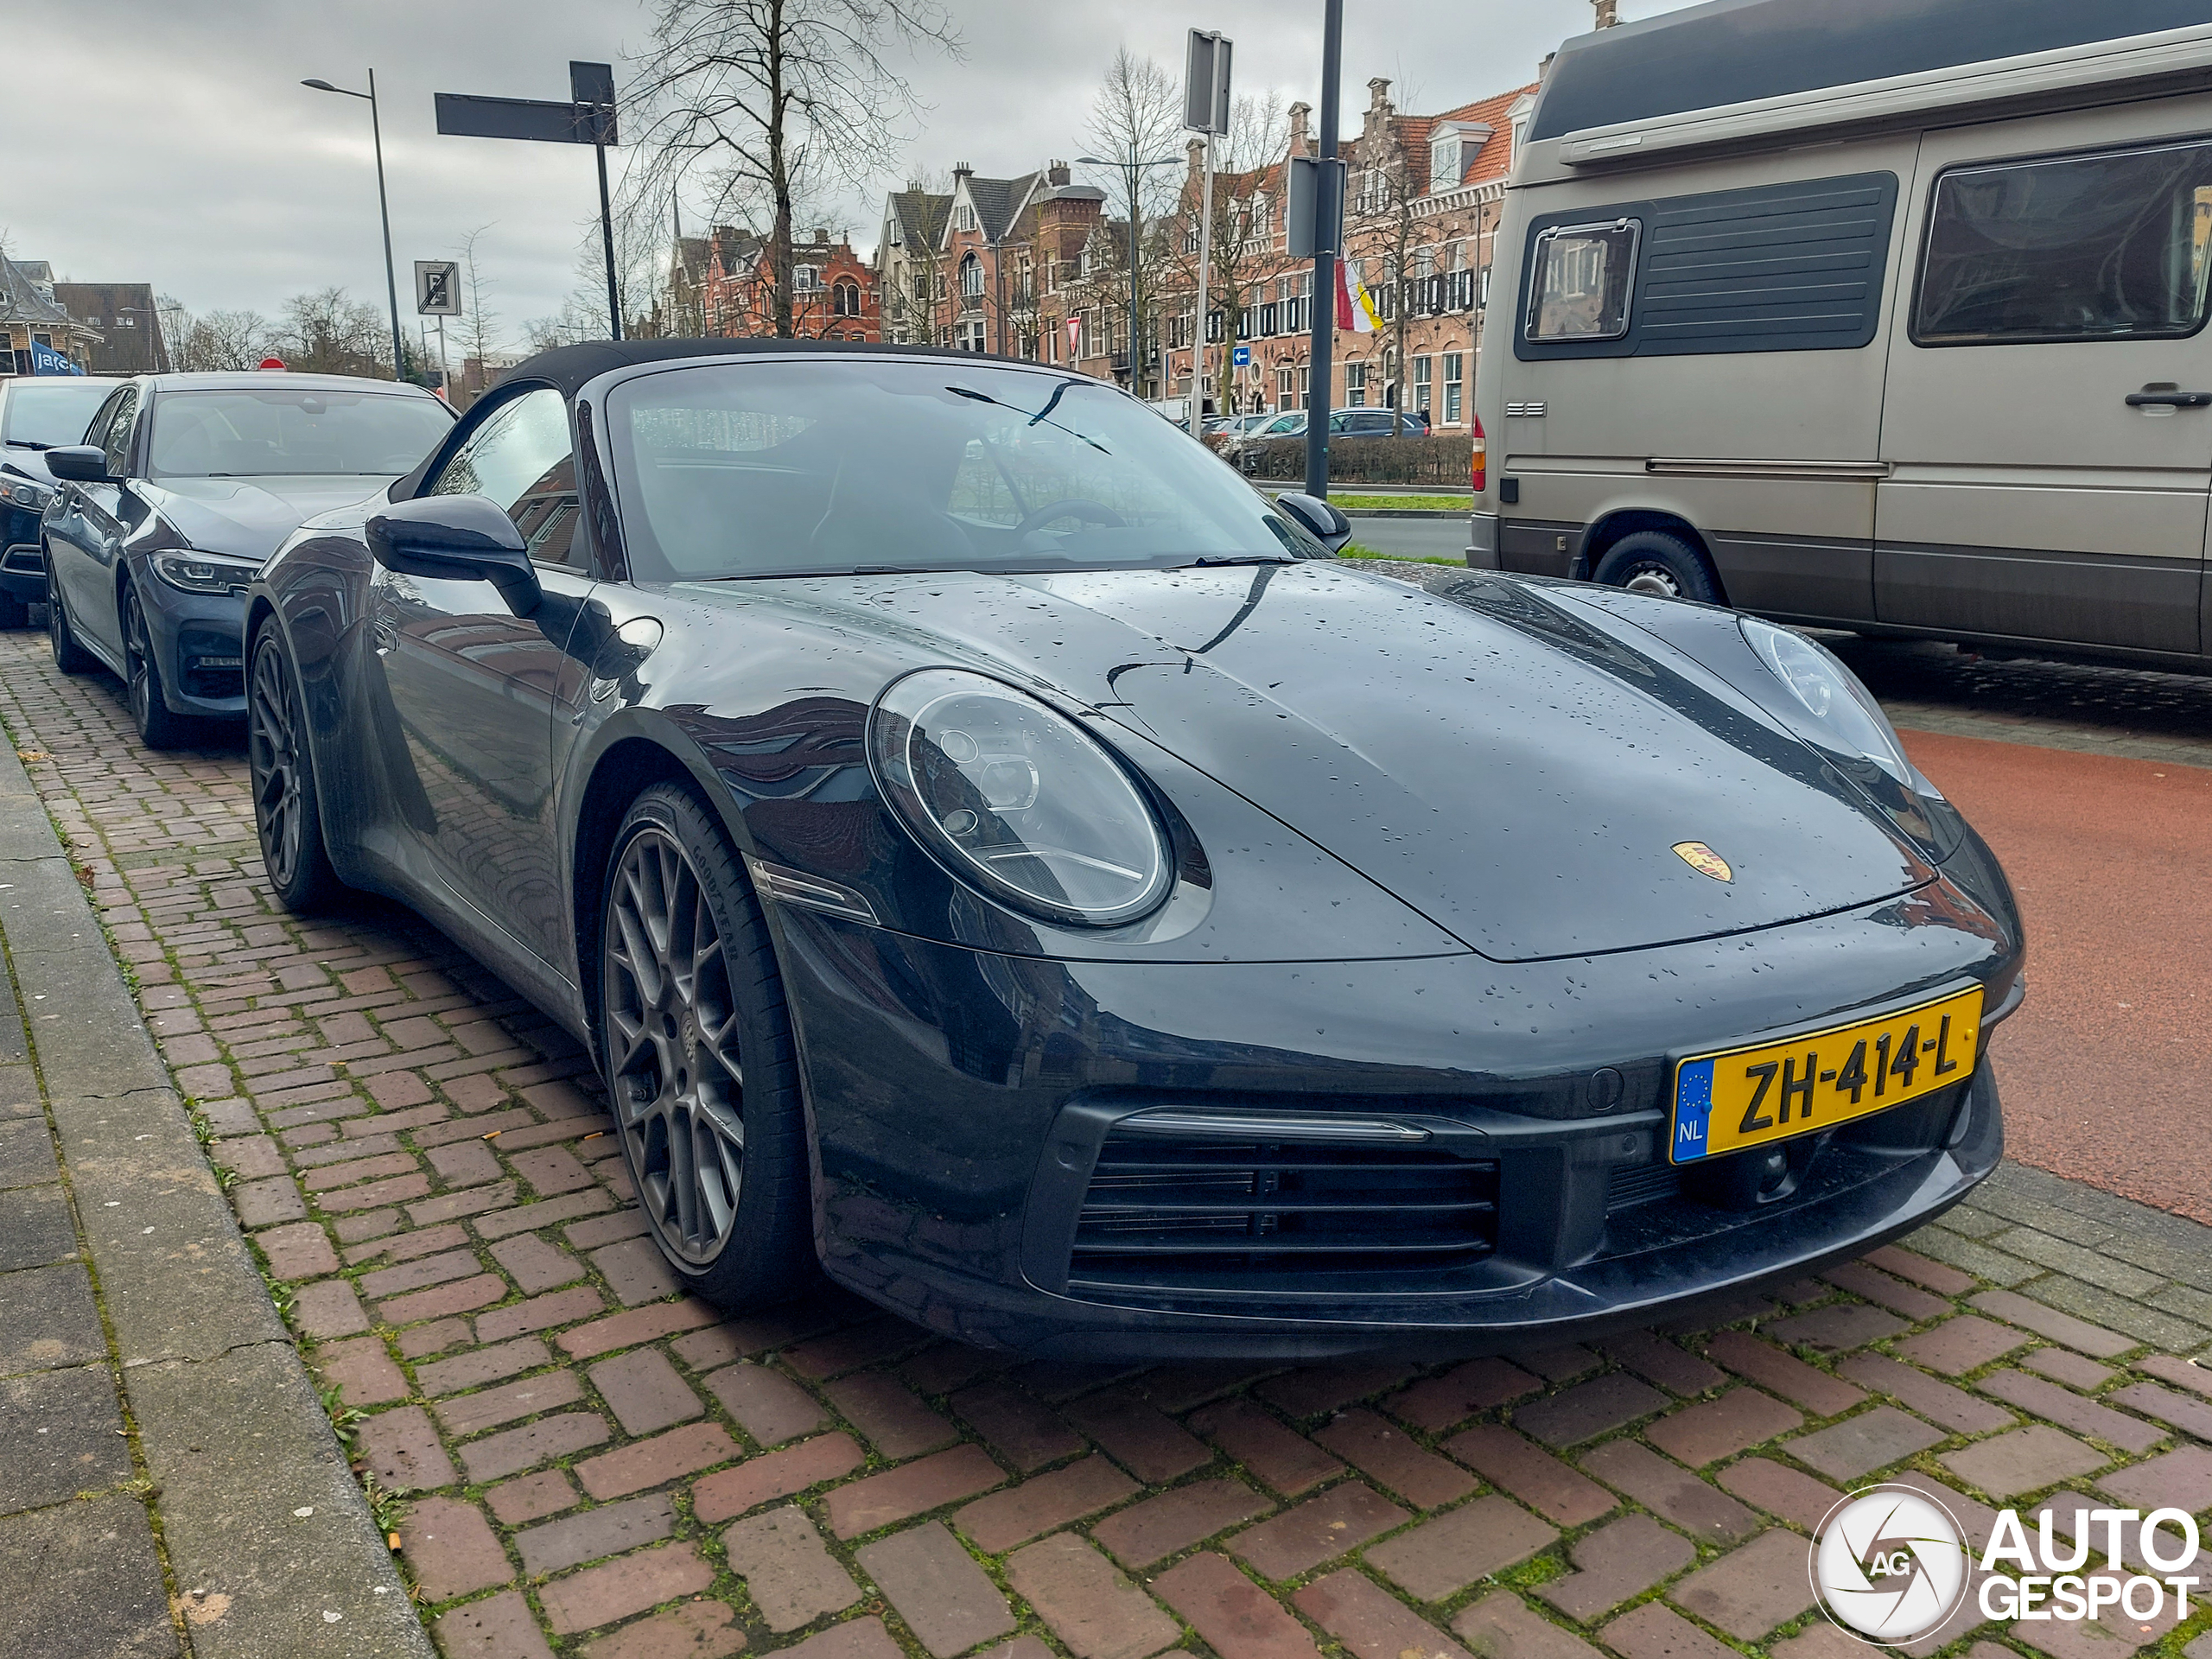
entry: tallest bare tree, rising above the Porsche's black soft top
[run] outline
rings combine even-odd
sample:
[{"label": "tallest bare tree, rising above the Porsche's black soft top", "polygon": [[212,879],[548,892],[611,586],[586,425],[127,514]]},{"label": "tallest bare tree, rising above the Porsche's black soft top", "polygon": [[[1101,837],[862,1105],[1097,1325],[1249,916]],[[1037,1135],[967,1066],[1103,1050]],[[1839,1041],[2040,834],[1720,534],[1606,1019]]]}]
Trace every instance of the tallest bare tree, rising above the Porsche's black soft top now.
[{"label": "tallest bare tree, rising above the Porsche's black soft top", "polygon": [[810,192],[867,186],[918,113],[891,49],[960,53],[940,0],[657,0],[628,104],[644,166],[633,199],[703,170],[768,226],[770,314],[792,336],[792,226]]}]

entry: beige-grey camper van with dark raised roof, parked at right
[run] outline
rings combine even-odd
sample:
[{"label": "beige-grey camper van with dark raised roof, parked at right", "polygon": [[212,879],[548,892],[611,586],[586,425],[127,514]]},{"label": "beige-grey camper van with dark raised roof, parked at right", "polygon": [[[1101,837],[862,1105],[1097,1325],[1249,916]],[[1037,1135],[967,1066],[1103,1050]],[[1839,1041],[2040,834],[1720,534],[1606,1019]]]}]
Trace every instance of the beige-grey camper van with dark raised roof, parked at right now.
[{"label": "beige-grey camper van with dark raised roof, parked at right", "polygon": [[1714,0],[1515,153],[1469,564],[2212,668],[2212,0]]}]

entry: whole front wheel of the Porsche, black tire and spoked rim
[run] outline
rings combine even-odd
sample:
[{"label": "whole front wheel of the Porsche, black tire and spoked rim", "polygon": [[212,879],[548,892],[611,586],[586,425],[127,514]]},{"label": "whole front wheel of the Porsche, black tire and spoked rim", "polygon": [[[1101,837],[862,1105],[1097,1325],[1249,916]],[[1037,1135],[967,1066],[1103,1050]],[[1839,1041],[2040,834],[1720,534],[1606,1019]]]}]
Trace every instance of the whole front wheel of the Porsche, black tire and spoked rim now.
[{"label": "whole front wheel of the Porsche, black tire and spoked rim", "polygon": [[599,889],[599,1051],[637,1203],[686,1290],[741,1314],[816,1283],[783,980],[721,825],[630,803]]}]

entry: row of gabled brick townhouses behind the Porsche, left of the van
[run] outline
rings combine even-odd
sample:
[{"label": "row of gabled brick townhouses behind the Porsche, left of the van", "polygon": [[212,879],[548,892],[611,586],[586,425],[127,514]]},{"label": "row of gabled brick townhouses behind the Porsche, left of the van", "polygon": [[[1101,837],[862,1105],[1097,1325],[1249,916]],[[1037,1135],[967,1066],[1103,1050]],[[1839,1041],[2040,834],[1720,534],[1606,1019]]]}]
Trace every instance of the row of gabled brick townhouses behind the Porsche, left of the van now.
[{"label": "row of gabled brick townhouses behind the Porsche, left of the van", "polygon": [[[1360,131],[1343,144],[1345,259],[1374,294],[1380,327],[1338,330],[1340,407],[1402,403],[1427,409],[1440,429],[1467,427],[1491,243],[1535,91],[1517,86],[1436,115],[1405,115],[1387,80],[1367,84]],[[1305,104],[1290,108],[1285,159],[1294,153],[1318,153]],[[1144,234],[1148,338],[1135,389],[1183,398],[1203,369],[1210,409],[1303,409],[1314,272],[1312,261],[1287,252],[1285,164],[1214,175],[1214,288],[1232,285],[1241,303],[1234,316],[1210,319],[1203,365],[1201,168],[1192,142],[1177,212]],[[1128,221],[1108,219],[1106,192],[1073,184],[1066,164],[1011,179],[962,164],[949,192],[894,190],[883,223],[876,274],[891,319],[887,338],[1060,363],[1130,385]],[[1223,380],[1239,343],[1252,361]]]}]

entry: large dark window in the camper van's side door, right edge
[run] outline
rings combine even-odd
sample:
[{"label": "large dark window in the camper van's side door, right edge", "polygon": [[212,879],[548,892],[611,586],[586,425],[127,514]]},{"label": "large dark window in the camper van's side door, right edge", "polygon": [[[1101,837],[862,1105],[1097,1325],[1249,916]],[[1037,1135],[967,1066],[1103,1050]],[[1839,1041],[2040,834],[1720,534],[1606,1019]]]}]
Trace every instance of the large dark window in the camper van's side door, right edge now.
[{"label": "large dark window in the camper van's side door, right edge", "polygon": [[2205,321],[2212,144],[1936,179],[1920,345],[2177,338]]}]

